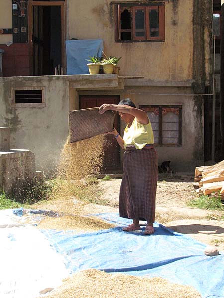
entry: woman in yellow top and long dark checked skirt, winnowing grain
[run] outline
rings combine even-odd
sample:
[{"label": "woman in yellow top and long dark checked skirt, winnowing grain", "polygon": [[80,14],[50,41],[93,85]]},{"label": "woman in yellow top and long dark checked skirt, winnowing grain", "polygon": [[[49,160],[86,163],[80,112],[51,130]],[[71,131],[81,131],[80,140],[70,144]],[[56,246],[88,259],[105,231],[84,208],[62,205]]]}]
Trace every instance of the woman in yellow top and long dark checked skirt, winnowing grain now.
[{"label": "woman in yellow top and long dark checked skirt, winnowing grain", "polygon": [[157,153],[153,148],[154,138],[147,114],[135,107],[129,99],[118,105],[103,104],[99,113],[117,111],[127,123],[121,138],[116,129],[112,132],[119,145],[125,149],[123,156],[123,179],[120,186],[120,216],[133,219],[133,223],[123,228],[130,232],[140,229],[139,220],[146,220],[146,235],[154,233],[155,195],[158,178]]}]

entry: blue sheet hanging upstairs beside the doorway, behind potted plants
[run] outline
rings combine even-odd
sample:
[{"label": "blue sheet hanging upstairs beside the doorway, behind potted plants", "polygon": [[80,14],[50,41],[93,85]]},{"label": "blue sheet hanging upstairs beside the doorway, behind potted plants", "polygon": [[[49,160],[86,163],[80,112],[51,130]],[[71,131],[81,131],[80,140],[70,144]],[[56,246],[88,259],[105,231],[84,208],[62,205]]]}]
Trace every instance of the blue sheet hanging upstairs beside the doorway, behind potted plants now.
[{"label": "blue sheet hanging upstairs beside the doorway, behind potted plants", "polygon": [[101,57],[102,39],[66,40],[67,75],[89,74],[89,56]]}]

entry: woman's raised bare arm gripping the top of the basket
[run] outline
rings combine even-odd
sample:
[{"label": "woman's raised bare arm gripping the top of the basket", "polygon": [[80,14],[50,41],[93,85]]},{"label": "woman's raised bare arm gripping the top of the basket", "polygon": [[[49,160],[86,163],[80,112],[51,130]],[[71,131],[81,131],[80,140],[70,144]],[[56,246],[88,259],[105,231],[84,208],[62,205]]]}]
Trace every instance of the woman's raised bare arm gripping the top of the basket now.
[{"label": "woman's raised bare arm gripping the top of the basket", "polygon": [[148,124],[149,123],[148,116],[144,111],[133,108],[133,107],[130,107],[128,105],[122,105],[122,104],[118,105],[118,104],[104,103],[104,104],[102,104],[102,106],[100,106],[99,113],[103,114],[104,112],[106,112],[108,110],[117,111],[117,112],[120,112],[120,113],[131,114],[134,117],[136,117],[138,122],[141,123],[141,124]]}]

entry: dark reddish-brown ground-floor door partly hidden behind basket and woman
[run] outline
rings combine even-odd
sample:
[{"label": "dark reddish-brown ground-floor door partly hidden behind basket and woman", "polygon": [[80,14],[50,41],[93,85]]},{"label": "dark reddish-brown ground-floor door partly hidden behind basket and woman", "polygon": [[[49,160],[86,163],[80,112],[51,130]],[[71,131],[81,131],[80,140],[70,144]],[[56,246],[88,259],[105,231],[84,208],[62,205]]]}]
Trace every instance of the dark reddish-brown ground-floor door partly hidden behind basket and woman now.
[{"label": "dark reddish-brown ground-floor door partly hidden behind basket and woman", "polygon": [[[80,109],[100,107],[103,103],[118,104],[120,96],[116,95],[80,95]],[[120,131],[120,117],[115,117],[115,128]],[[104,149],[104,160],[102,174],[120,173],[120,146],[112,135],[105,135],[106,144]]]}]

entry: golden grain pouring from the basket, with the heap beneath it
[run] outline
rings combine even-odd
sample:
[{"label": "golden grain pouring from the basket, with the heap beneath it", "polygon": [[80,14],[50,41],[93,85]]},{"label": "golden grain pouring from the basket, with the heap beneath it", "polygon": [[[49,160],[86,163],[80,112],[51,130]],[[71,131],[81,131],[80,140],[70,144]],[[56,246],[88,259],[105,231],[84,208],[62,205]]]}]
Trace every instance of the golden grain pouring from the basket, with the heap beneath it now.
[{"label": "golden grain pouring from the basket, with the heap beneath it", "polygon": [[[93,205],[85,200],[88,195],[86,179],[100,172],[104,158],[104,135],[70,143],[67,139],[61,153],[57,179],[54,181],[48,210],[57,211],[57,218],[43,217],[38,228],[95,231],[114,227],[103,220],[82,216],[82,211],[94,213]],[[89,178],[90,179],[90,178]],[[77,200],[76,196],[83,196]],[[82,195],[83,194],[83,195]],[[55,204],[55,202],[57,202]],[[61,203],[59,203],[61,202]],[[41,208],[39,204],[39,208]]]}]

